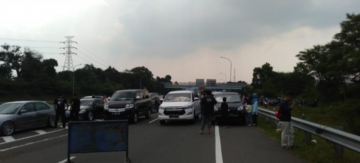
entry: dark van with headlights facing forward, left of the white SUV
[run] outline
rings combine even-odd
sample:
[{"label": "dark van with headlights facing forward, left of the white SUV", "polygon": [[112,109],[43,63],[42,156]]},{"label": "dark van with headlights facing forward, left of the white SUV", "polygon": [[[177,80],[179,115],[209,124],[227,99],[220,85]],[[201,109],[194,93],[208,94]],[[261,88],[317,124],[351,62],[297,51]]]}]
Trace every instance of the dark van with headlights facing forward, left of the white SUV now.
[{"label": "dark van with headlights facing forward, left of the white SUV", "polygon": [[140,116],[151,117],[151,98],[148,90],[118,90],[104,106],[104,119],[129,119],[136,123]]}]

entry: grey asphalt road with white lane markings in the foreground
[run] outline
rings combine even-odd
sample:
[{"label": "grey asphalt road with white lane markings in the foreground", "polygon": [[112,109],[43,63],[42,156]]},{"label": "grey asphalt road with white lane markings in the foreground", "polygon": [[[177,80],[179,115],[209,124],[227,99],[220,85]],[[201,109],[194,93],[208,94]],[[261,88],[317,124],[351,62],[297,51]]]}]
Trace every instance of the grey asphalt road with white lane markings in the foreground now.
[{"label": "grey asphalt road with white lane markings in the foreground", "polygon": [[[160,125],[157,114],[129,125],[131,162],[305,162],[281,148],[256,126],[212,126],[199,134],[195,124]],[[66,162],[68,129],[37,128],[0,137],[0,162]],[[124,162],[125,151],[71,154],[78,162]],[[280,158],[281,157],[281,158]]]}]

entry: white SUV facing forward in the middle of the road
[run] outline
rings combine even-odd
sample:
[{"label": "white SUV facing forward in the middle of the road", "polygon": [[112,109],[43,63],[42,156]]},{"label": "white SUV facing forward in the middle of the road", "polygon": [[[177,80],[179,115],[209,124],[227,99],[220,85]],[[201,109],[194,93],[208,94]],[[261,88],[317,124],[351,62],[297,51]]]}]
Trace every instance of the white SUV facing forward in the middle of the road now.
[{"label": "white SUV facing forward in the middle of the road", "polygon": [[165,124],[165,120],[188,120],[194,123],[201,113],[198,100],[190,90],[169,92],[159,106],[160,124]]}]

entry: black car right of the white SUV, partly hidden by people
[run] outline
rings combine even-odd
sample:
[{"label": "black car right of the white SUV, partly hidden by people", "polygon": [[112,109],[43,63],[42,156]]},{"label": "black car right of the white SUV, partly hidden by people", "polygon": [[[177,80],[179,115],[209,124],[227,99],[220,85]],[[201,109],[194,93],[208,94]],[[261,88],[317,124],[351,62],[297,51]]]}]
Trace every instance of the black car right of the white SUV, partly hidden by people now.
[{"label": "black car right of the white SUV, partly hidden by people", "polygon": [[214,98],[217,101],[214,108],[214,121],[221,120],[221,102],[222,98],[226,97],[226,102],[229,106],[229,120],[230,122],[240,122],[240,124],[246,124],[246,110],[242,105],[242,100],[239,93],[236,92],[217,92]]}]

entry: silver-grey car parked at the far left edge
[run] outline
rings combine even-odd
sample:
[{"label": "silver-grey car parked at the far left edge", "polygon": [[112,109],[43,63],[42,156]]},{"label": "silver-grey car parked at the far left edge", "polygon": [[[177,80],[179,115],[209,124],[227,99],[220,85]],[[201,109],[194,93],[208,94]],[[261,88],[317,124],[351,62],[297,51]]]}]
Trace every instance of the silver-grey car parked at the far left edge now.
[{"label": "silver-grey car parked at the far left edge", "polygon": [[14,101],[0,105],[0,135],[41,125],[54,127],[54,106],[43,101]]}]

